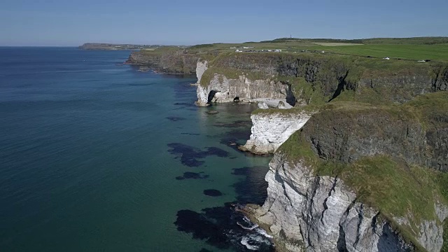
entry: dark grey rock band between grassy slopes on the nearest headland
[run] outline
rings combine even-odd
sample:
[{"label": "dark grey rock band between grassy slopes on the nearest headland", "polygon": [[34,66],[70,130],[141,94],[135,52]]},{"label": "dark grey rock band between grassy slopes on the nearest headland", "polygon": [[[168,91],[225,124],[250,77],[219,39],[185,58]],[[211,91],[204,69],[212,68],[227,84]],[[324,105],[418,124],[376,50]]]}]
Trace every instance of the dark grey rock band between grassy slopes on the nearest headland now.
[{"label": "dark grey rock band between grassy slopes on the nearest headland", "polygon": [[[440,106],[448,109],[445,104]],[[448,114],[442,109],[433,117],[438,120],[437,126],[430,120],[421,122],[405,108],[360,106],[322,111],[308,121],[303,132],[311,149],[323,160],[349,163],[365,156],[387,154],[447,171]],[[428,125],[426,129],[424,124]]]}]

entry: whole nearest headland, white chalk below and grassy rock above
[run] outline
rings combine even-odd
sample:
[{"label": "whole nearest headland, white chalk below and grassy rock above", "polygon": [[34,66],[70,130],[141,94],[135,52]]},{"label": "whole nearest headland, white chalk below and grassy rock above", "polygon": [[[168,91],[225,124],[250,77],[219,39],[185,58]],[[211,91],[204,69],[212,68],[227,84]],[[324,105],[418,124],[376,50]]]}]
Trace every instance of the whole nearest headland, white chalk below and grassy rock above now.
[{"label": "whole nearest headland, white chalk below and grassy rock above", "polygon": [[441,251],[447,119],[448,92],[329,104],[276,151],[253,217],[284,251]]}]

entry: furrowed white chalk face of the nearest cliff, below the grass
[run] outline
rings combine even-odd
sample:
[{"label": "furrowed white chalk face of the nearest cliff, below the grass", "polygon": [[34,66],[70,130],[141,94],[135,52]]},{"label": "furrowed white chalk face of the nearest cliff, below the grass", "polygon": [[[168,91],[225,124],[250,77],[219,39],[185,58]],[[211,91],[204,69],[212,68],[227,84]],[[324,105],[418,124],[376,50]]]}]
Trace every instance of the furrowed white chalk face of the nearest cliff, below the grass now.
[{"label": "furrowed white chalk face of the nearest cliff, below the grass", "polygon": [[[266,175],[265,204],[255,218],[269,227],[286,251],[414,251],[378,210],[356,201],[344,181],[314,176],[304,162],[276,153]],[[435,205],[439,220],[423,221],[416,239],[428,251],[440,251],[447,209]],[[396,218],[407,225],[406,217]]]}]

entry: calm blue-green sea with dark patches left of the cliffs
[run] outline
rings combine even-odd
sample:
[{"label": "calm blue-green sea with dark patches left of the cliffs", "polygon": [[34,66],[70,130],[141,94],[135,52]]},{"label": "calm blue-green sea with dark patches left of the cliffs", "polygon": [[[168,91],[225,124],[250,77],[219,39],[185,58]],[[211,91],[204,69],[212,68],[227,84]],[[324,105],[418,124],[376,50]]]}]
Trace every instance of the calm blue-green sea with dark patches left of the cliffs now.
[{"label": "calm blue-green sea with dark patches left of the cliffs", "polygon": [[193,76],[141,73],[121,64],[129,54],[0,48],[0,251],[245,251],[242,237],[260,239],[225,205],[265,197],[269,157],[230,145],[248,138],[254,108],[197,108]]}]

